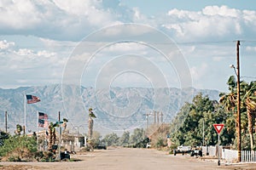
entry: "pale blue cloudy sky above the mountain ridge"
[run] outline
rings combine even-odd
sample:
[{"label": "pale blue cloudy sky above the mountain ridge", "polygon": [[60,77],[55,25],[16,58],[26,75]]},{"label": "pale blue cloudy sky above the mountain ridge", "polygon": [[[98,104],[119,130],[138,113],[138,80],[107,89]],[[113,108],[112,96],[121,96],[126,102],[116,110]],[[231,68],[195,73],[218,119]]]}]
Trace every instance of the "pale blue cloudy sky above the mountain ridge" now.
[{"label": "pale blue cloudy sky above the mountain ridge", "polygon": [[256,4],[220,0],[0,1],[0,88],[56,83],[227,91],[256,79]]}]

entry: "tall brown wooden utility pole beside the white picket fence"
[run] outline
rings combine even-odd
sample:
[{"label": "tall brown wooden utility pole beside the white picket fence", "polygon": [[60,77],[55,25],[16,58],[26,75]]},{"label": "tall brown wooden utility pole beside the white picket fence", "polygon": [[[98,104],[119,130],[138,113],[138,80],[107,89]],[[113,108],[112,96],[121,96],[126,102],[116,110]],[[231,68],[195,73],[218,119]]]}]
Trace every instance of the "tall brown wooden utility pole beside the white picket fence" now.
[{"label": "tall brown wooden utility pole beside the white picket fence", "polygon": [[236,42],[236,69],[237,69],[237,150],[238,161],[241,161],[241,98],[240,98],[240,63],[239,63],[239,46],[240,41]]}]

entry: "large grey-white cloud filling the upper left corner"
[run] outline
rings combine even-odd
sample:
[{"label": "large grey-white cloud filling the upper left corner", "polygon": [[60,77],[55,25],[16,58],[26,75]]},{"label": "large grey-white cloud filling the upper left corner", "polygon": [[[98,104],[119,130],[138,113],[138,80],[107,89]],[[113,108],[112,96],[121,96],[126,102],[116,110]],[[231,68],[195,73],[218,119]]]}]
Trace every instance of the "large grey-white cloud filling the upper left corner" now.
[{"label": "large grey-white cloud filling the upper left corner", "polygon": [[[106,4],[105,4],[106,6]],[[0,31],[32,34],[49,39],[80,40],[91,31],[125,20],[132,21],[133,10],[116,6],[104,8],[96,0],[44,0],[0,2]]]}]

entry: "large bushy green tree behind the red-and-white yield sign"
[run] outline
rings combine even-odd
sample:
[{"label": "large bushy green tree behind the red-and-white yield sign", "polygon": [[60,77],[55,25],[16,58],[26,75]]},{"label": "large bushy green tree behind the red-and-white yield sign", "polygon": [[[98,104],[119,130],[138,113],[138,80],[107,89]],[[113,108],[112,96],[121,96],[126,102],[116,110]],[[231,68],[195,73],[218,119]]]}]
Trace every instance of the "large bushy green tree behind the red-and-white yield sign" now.
[{"label": "large bushy green tree behind the red-and-white yield sign", "polygon": [[[211,100],[208,96],[197,94],[192,103],[186,103],[177,113],[171,124],[172,142],[177,145],[201,145],[201,144],[217,144],[217,133],[215,133],[214,123],[224,123],[229,116],[218,105],[216,100]],[[185,119],[184,121],[182,119]],[[203,128],[204,127],[204,128]],[[203,131],[205,133],[203,141]],[[234,135],[225,136],[224,144],[230,144]]]}]

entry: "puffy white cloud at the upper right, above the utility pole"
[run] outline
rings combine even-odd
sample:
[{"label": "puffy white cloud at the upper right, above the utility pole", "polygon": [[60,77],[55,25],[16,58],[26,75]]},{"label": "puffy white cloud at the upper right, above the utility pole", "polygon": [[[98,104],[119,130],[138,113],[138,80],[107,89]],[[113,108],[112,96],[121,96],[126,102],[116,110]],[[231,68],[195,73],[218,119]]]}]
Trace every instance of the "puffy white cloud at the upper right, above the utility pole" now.
[{"label": "puffy white cloud at the upper right, above the utility pole", "polygon": [[[162,26],[172,31],[176,39],[198,41],[210,38],[229,38],[248,36],[253,31],[255,11],[239,10],[227,6],[207,6],[201,11],[172,9],[166,14],[166,23]],[[254,31],[255,32],[255,31]],[[182,38],[182,39],[181,39]]]}]

